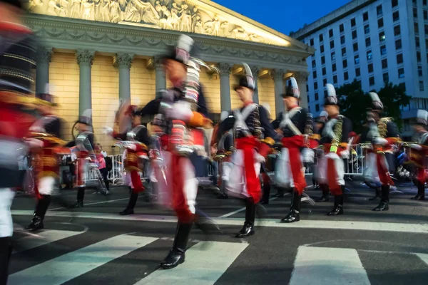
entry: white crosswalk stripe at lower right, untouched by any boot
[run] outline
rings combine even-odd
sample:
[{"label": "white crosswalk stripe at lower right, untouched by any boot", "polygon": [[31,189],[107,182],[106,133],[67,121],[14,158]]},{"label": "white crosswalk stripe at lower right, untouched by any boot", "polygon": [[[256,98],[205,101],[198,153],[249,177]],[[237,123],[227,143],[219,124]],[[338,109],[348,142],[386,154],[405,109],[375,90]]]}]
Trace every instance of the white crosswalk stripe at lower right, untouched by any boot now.
[{"label": "white crosswalk stripe at lower right, untouched by any boot", "polygon": [[299,247],[290,285],[370,285],[355,249]]}]

